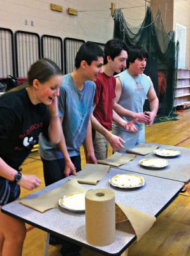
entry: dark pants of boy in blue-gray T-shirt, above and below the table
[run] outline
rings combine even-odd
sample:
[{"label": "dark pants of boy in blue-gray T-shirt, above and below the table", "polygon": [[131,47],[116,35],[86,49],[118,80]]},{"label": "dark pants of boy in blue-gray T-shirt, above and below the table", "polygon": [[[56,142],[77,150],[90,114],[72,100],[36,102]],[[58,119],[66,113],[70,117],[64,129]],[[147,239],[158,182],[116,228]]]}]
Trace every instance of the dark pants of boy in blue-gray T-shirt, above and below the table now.
[{"label": "dark pants of boy in blue-gray T-shirt, above and below the table", "polygon": [[[65,167],[64,158],[57,160],[45,160],[41,157],[41,161],[43,162],[43,175],[46,186],[65,178],[63,173]],[[79,172],[81,170],[80,155],[71,157],[71,161],[75,165],[77,172]],[[50,235],[50,244],[62,244],[62,248],[60,250],[62,255],[80,255],[79,252],[81,250],[81,246],[68,242],[64,239],[60,239],[59,237]]]}]

